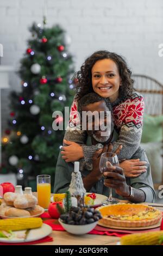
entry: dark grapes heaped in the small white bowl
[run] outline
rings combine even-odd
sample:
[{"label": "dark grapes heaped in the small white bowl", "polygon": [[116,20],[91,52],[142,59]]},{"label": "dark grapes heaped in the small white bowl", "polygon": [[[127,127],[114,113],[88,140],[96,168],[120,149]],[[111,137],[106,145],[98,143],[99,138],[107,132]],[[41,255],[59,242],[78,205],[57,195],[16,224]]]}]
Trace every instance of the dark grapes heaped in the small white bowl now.
[{"label": "dark grapes heaped in the small white bowl", "polygon": [[93,208],[72,207],[70,212],[62,214],[60,219],[62,222],[71,225],[84,225],[98,221],[102,218],[101,212]]}]

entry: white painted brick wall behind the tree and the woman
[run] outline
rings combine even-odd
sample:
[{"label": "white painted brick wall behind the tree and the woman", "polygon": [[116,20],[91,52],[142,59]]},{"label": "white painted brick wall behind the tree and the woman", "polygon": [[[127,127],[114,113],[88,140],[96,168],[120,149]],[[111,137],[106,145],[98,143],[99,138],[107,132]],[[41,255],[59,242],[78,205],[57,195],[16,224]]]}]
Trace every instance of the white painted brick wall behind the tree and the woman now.
[{"label": "white painted brick wall behind the tree and the woman", "polygon": [[[42,22],[43,0],[0,0],[2,64],[15,69],[27,48],[28,27]],[[96,50],[115,51],[126,57],[134,73],[150,75],[163,83],[162,0],[47,0],[48,25],[59,23],[71,36],[70,51],[76,70]],[[11,87],[20,89],[16,75]],[[8,91],[2,91],[3,129],[8,118]]]}]

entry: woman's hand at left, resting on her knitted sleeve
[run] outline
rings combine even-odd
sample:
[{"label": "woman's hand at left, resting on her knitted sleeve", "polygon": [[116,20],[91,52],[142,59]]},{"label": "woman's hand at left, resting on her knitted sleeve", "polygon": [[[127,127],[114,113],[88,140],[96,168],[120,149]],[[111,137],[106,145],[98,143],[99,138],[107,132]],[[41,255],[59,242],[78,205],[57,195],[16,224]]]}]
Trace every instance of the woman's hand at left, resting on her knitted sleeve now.
[{"label": "woman's hand at left, resting on her knitted sleeve", "polygon": [[61,154],[62,159],[65,159],[66,162],[74,162],[84,157],[83,148],[76,142],[66,141],[64,139],[66,147],[62,147]]}]

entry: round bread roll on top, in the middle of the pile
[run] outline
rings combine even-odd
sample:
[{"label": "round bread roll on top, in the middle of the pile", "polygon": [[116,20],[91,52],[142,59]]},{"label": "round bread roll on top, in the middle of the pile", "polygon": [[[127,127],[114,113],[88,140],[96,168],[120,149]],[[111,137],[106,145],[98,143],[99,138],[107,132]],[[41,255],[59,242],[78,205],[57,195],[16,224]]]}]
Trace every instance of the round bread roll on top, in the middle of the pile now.
[{"label": "round bread roll on top, in the middle of the pile", "polygon": [[19,196],[14,201],[15,208],[26,209],[32,208],[37,204],[37,198],[32,194],[24,194]]}]

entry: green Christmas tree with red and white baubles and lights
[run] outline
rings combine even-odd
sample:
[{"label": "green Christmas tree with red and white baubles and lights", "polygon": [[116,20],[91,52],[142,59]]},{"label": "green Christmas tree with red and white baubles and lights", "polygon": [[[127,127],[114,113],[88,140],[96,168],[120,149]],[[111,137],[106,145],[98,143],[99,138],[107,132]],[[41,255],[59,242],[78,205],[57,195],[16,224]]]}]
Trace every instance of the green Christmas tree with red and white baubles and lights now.
[{"label": "green Christmas tree with red and white baubles and lights", "polygon": [[9,128],[2,138],[1,173],[16,173],[18,184],[25,186],[39,174],[51,175],[54,182],[65,131],[53,130],[52,114],[70,107],[74,95],[70,38],[59,25],[43,24],[33,23],[29,29],[32,36],[18,72],[22,89],[10,95]]}]

